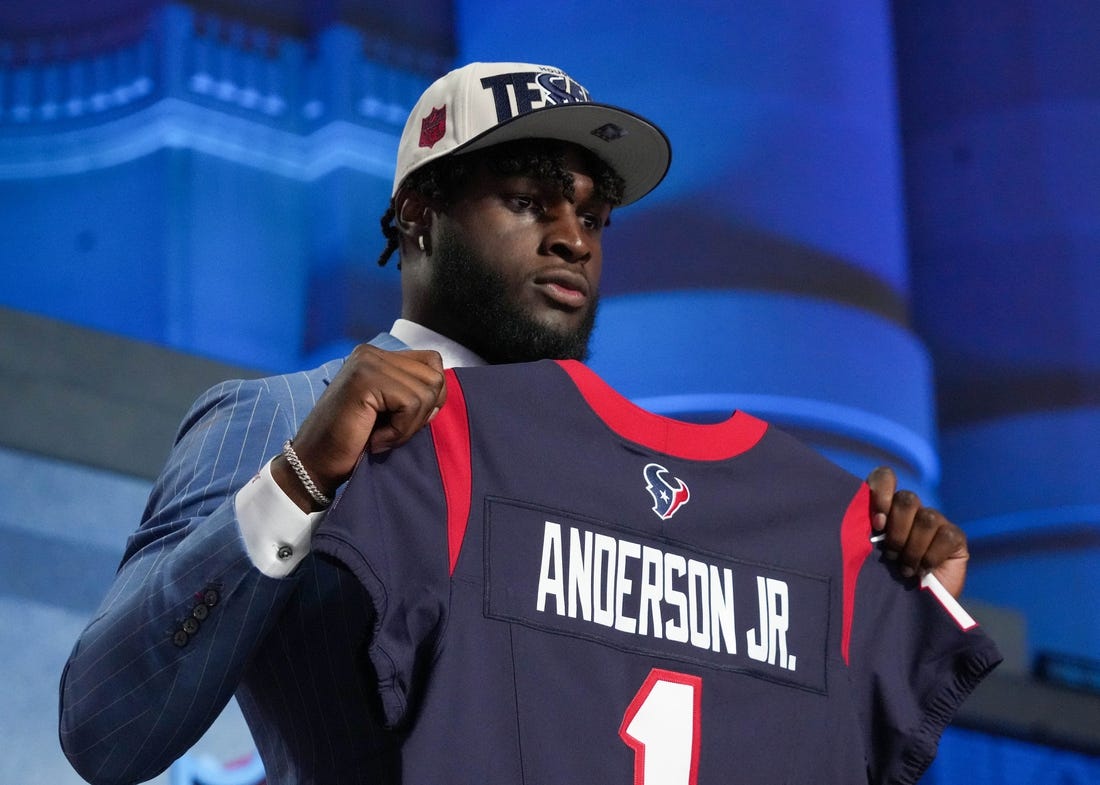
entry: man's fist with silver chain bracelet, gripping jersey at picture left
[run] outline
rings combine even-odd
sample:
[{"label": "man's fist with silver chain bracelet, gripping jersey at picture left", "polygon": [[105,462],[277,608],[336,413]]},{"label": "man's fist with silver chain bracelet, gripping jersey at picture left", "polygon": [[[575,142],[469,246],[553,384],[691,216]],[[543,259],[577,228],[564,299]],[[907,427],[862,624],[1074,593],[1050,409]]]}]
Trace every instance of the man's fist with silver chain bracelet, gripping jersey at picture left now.
[{"label": "man's fist with silver chain bracelet, gripping jersey at picture left", "polygon": [[[364,450],[382,452],[405,443],[446,398],[443,362],[437,352],[387,352],[360,344],[301,423],[295,452],[331,498]],[[319,509],[283,455],[272,462],[272,475],[304,511]]]}]

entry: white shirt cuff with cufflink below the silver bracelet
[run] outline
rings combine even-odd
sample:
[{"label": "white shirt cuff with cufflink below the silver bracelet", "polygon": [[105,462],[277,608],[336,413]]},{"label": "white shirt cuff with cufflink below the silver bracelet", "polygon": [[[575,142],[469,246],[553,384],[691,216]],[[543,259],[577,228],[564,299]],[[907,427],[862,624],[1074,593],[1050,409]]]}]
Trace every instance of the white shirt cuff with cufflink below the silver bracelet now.
[{"label": "white shirt cuff with cufflink below the silver bracelet", "polygon": [[233,504],[249,557],[272,578],[285,578],[294,572],[309,553],[314,530],[324,518],[324,510],[302,512],[283,493],[272,476],[271,462],[237,491]]}]

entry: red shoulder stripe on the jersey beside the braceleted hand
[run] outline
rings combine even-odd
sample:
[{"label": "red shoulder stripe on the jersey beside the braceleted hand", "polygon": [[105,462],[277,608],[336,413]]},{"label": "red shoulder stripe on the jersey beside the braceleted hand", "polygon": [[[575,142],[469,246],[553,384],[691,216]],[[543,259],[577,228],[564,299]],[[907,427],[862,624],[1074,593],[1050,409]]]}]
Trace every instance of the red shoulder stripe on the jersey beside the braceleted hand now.
[{"label": "red shoulder stripe on the jersey beside the braceleted hand", "polygon": [[459,552],[466,535],[473,472],[470,457],[470,416],[462,385],[453,371],[447,371],[447,402],[431,421],[431,440],[436,446],[439,478],[447,500],[447,548],[451,575],[459,562]]}]

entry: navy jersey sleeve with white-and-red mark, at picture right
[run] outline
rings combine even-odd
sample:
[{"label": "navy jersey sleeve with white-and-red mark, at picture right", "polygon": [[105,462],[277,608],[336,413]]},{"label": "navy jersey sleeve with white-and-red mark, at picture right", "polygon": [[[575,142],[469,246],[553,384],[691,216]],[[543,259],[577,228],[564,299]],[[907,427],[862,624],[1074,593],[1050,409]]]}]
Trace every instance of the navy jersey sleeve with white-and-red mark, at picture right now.
[{"label": "navy jersey sleeve with white-and-red mark, at picture right", "polygon": [[[866,486],[849,509],[847,537],[868,543],[850,585],[845,641],[856,708],[868,740],[871,783],[916,783],[963,701],[1001,654],[934,577],[903,578],[870,543]],[[848,548],[849,559],[853,549]]]}]

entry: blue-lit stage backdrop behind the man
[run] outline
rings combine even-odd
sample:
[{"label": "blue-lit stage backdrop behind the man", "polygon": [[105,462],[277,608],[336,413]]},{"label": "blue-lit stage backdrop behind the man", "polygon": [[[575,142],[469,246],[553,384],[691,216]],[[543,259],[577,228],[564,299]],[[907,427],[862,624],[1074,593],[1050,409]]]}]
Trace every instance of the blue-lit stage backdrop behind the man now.
[{"label": "blue-lit stage backdrop behind the man", "polygon": [[[377,219],[420,90],[558,65],[673,147],[608,230],[593,367],[664,413],[745,408],[897,466],[967,529],[968,604],[1021,621],[1010,667],[1100,660],[1098,25],[1068,0],[13,0],[0,306],[256,372],[338,356],[397,314]],[[0,778],[75,776],[56,678],[146,489],[0,445],[0,605],[34,630],[0,631]],[[48,579],[73,548],[106,577]],[[1009,743],[955,732],[930,781],[1100,780],[1053,752],[1021,774]]]}]

